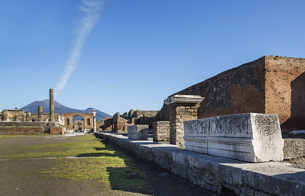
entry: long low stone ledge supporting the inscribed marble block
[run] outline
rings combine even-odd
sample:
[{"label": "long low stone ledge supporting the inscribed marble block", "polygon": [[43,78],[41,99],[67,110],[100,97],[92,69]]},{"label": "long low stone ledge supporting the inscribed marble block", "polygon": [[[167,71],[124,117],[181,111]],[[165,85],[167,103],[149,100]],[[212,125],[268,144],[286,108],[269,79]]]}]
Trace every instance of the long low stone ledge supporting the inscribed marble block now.
[{"label": "long low stone ledge supporting the inscribed marble block", "polygon": [[179,149],[177,145],[95,133],[177,176],[217,192],[238,196],[305,195],[305,170],[282,162],[249,163]]}]

